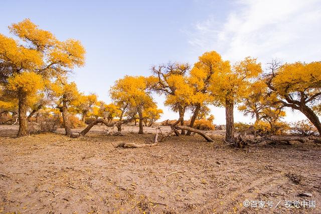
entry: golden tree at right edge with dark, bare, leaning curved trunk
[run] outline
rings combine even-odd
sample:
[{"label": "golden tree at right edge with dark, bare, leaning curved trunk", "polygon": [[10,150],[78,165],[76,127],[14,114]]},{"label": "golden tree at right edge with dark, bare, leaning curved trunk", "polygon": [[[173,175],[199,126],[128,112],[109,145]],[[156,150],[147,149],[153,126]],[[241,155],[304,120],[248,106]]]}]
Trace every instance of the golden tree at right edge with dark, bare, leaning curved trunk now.
[{"label": "golden tree at right edge with dark, bare, leaning curved trunk", "polygon": [[321,134],[321,123],[313,108],[320,105],[321,62],[280,65],[272,61],[265,82],[275,103],[302,112]]}]

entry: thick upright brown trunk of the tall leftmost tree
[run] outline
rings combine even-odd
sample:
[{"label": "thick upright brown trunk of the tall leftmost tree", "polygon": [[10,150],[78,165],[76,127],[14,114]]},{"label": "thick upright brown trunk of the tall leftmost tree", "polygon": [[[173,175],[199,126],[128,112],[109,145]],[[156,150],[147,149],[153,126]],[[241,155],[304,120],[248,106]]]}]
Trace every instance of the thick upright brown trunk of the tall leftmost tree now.
[{"label": "thick upright brown trunk of the tall leftmost tree", "polygon": [[17,137],[23,137],[28,135],[28,120],[27,120],[27,94],[24,91],[19,91],[19,130]]}]

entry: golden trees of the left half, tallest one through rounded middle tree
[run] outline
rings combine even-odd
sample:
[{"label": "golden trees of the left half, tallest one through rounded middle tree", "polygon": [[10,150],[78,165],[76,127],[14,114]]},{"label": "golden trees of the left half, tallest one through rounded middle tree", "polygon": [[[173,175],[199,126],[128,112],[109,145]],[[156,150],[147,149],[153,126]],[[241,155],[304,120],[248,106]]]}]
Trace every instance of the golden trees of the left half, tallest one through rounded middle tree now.
[{"label": "golden trees of the left half, tallest one through rounded middle tree", "polygon": [[162,114],[149,93],[141,93],[147,84],[143,78],[117,81],[110,104],[98,101],[96,94],[79,92],[76,83],[67,78],[75,66],[85,63],[85,49],[79,41],[60,41],[29,19],[9,29],[15,39],[0,34],[0,116],[18,116],[17,137],[29,134],[32,118],[61,116],[70,136],[70,117],[74,115],[83,122],[86,118],[112,122],[115,117],[122,120],[129,114],[135,119],[139,115],[140,124],[151,126]]}]

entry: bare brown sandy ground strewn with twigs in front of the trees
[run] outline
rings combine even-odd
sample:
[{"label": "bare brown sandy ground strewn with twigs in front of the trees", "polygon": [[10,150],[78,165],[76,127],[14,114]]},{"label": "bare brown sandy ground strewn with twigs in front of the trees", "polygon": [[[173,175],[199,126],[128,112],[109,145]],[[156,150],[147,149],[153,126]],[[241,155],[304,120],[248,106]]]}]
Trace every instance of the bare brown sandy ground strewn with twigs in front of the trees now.
[{"label": "bare brown sandy ground strewn with twigs in front of the trees", "polygon": [[[222,147],[224,133],[215,131],[213,143],[173,136],[153,147],[115,149],[117,142],[149,143],[154,129],[137,135],[126,127],[126,136],[116,137],[96,127],[79,139],[16,139],[16,132],[0,126],[0,212],[321,213],[319,145],[236,149]],[[244,200],[273,207],[245,207]],[[300,205],[286,208],[285,200]],[[303,200],[316,207],[303,208]]]}]

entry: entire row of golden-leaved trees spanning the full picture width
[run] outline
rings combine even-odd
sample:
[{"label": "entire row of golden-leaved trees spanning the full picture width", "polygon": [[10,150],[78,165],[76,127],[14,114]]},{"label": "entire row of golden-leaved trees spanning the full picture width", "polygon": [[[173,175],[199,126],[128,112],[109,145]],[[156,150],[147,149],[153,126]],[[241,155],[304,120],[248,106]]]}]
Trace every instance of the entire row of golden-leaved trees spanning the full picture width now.
[{"label": "entire row of golden-leaved trees spanning the full picture width", "polygon": [[[246,57],[233,65],[215,51],[206,52],[191,66],[168,63],[151,67],[150,76],[125,76],[110,88],[112,103],[97,101],[95,94],[84,95],[67,74],[83,66],[85,49],[77,40],[59,41],[26,19],[9,27],[15,40],[0,34],[1,113],[18,114],[18,137],[27,135],[28,117],[54,103],[62,114],[66,134],[71,134],[68,115],[117,117],[150,126],[163,113],[152,93],[166,96],[165,105],[178,113],[184,125],[186,111],[192,111],[189,127],[209,112],[209,105],[226,109],[226,141],[235,141],[234,106],[270,128],[285,116],[284,108],[302,112],[321,133],[317,114],[321,113],[321,62],[285,63],[275,60],[263,70],[255,58]],[[27,116],[29,112],[29,116]],[[97,122],[97,121],[96,121]],[[118,130],[121,127],[118,126]],[[190,135],[191,132],[181,134]]]}]

